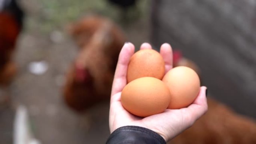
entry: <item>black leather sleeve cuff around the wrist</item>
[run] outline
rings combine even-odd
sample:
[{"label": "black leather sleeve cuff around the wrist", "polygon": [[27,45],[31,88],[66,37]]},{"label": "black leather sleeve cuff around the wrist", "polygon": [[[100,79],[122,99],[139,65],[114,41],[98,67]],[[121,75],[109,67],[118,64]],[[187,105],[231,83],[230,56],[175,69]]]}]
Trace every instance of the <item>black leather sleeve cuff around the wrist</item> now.
[{"label": "black leather sleeve cuff around the wrist", "polygon": [[106,144],[166,144],[164,138],[140,126],[123,126],[116,129]]}]

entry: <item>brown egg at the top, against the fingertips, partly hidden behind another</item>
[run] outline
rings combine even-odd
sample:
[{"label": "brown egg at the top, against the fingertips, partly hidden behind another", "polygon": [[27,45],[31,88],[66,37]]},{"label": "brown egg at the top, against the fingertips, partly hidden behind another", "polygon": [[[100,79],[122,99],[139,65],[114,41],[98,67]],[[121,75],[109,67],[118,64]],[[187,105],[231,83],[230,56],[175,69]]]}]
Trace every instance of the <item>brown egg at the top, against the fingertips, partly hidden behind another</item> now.
[{"label": "brown egg at the top, against the fingertips, partly hidden behind another", "polygon": [[132,55],[128,70],[127,83],[140,77],[162,79],[165,73],[164,59],[153,49],[143,49]]}]

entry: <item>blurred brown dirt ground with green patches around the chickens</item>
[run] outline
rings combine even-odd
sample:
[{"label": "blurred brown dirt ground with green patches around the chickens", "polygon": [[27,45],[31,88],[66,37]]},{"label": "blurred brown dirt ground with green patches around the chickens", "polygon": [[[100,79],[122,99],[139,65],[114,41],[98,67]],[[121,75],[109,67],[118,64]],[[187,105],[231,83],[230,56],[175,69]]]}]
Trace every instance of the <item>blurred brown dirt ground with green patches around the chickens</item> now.
[{"label": "blurred brown dirt ground with green patches around the chickens", "polygon": [[[0,144],[13,143],[15,109],[28,108],[35,137],[42,144],[100,144],[109,137],[109,103],[101,103],[84,114],[70,110],[62,99],[65,73],[77,54],[67,26],[88,13],[100,13],[118,23],[128,40],[140,46],[149,42],[149,3],[131,9],[121,21],[120,10],[106,0],[21,0],[24,30],[14,60],[18,74],[9,88],[11,103],[0,111]],[[139,34],[138,34],[139,32]],[[45,73],[33,74],[31,62],[43,62]]]}]

